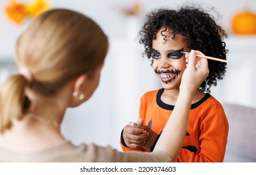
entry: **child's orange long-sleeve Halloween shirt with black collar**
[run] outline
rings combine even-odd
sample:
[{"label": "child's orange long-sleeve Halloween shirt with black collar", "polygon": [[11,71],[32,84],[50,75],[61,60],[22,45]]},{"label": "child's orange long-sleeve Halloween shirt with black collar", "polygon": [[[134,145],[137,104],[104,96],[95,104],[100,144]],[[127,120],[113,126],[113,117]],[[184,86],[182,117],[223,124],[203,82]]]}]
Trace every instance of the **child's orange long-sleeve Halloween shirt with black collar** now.
[{"label": "child's orange long-sleeve Halloween shirt with black collar", "polygon": [[[160,134],[172,114],[174,106],[161,101],[164,89],[149,91],[141,97],[140,119]],[[210,94],[192,104],[187,134],[177,162],[223,162],[228,136],[228,121],[222,105]],[[148,151],[124,146],[123,151]],[[172,149],[172,148],[170,148]]]}]

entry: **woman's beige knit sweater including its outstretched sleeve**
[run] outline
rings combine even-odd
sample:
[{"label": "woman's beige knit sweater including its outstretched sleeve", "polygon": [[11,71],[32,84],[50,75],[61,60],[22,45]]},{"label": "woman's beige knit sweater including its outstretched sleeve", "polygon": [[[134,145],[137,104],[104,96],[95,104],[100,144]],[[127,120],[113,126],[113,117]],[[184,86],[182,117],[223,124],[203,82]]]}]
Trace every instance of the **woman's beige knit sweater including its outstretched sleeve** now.
[{"label": "woman's beige knit sweater including its outstretched sleeve", "polygon": [[95,144],[81,144],[74,146],[66,141],[54,148],[45,149],[34,153],[14,153],[0,148],[0,162],[170,162],[168,154],[156,151],[143,153],[139,151],[119,152],[110,146],[101,147]]}]

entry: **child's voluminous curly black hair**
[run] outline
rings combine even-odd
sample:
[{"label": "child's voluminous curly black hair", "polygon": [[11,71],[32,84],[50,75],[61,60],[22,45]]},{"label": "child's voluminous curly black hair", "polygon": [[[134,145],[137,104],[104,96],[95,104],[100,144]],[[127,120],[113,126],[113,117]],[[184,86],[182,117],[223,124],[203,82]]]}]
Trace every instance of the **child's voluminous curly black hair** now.
[{"label": "child's voluminous curly black hair", "polygon": [[[186,5],[177,10],[160,8],[148,12],[145,24],[138,33],[139,42],[144,44],[148,59],[151,58],[152,41],[156,39],[156,34],[162,27],[171,29],[173,38],[175,34],[182,34],[190,49],[202,51],[207,56],[226,59],[228,50],[225,49],[223,39],[227,37],[227,33],[217,24],[215,18],[201,7]],[[217,81],[223,79],[227,63],[208,60],[208,68],[209,76],[200,85],[200,89],[210,93],[211,86],[216,86]]]}]

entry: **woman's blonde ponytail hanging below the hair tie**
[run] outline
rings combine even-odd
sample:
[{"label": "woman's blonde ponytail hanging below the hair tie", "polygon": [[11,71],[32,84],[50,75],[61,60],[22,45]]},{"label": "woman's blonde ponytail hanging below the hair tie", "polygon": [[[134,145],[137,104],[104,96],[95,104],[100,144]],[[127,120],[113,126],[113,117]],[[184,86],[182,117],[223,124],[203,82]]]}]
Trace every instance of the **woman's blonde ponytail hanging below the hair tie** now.
[{"label": "woman's blonde ponytail hanging below the hair tie", "polygon": [[0,90],[0,133],[13,126],[13,119],[21,119],[30,102],[25,89],[29,82],[23,75],[8,78]]}]

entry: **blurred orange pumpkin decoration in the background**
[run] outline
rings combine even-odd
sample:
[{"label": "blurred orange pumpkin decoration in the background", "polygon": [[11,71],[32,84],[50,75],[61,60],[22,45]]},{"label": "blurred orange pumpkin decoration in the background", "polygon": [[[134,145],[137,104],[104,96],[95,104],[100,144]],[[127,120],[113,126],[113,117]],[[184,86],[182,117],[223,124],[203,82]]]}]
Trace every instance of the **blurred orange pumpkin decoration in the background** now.
[{"label": "blurred orange pumpkin decoration in the background", "polygon": [[235,34],[256,34],[256,13],[245,11],[235,14],[232,30]]}]

